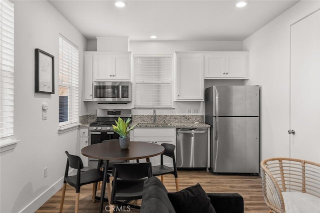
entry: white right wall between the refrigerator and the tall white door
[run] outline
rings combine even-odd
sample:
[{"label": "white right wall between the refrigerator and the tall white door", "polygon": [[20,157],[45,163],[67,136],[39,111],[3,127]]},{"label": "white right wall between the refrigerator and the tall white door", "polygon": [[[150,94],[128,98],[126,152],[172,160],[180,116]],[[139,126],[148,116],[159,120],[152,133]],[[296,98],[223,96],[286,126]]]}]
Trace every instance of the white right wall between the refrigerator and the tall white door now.
[{"label": "white right wall between the refrigerator and the tall white door", "polygon": [[261,86],[261,160],[289,157],[290,24],[319,7],[319,1],[299,1],[243,41],[250,53],[247,84]]}]

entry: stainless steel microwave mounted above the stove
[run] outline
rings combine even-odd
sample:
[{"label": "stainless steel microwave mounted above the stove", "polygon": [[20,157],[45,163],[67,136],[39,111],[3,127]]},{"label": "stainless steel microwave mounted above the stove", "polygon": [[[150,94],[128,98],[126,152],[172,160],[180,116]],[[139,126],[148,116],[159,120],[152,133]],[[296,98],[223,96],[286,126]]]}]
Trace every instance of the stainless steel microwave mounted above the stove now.
[{"label": "stainless steel microwave mounted above the stove", "polygon": [[93,101],[95,103],[130,103],[131,82],[94,81]]}]

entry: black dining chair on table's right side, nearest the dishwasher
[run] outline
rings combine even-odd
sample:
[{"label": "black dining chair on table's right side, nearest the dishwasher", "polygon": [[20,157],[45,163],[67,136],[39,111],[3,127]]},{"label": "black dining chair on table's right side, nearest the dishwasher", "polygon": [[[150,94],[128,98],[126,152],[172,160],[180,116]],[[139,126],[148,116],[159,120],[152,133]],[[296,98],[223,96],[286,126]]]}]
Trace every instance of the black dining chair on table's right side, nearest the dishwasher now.
[{"label": "black dining chair on table's right side, nearest the dishwasher", "polygon": [[[161,182],[163,183],[163,175],[172,174],[174,175],[175,180],[175,189],[179,191],[179,184],[178,184],[178,173],[176,171],[176,163],[174,158],[174,149],[175,146],[173,144],[161,144],[164,147],[164,152],[160,155],[160,165],[152,166],[152,176],[161,176]],[[173,161],[173,168],[163,165],[163,155],[172,158]]]}]

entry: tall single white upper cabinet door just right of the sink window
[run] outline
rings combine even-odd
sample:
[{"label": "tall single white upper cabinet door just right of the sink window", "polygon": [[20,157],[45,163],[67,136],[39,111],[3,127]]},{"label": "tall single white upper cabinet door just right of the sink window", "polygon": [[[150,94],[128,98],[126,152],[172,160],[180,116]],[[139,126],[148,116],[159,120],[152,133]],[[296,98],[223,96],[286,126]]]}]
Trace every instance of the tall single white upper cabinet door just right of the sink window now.
[{"label": "tall single white upper cabinet door just right of the sink window", "polygon": [[202,101],[203,54],[176,55],[176,101]]}]

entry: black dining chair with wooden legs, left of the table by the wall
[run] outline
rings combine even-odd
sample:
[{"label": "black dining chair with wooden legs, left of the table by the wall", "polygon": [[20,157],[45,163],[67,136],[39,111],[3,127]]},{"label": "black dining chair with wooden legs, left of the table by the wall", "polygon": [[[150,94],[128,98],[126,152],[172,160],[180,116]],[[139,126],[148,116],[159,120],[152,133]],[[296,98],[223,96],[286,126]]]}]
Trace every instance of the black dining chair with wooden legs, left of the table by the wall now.
[{"label": "black dining chair with wooden legs, left of the table by the wall", "polygon": [[[62,212],[64,195],[66,184],[75,188],[75,207],[74,212],[77,213],[79,209],[79,195],[80,195],[80,187],[87,184],[92,184],[92,202],[95,202],[95,192],[97,182],[103,180],[103,172],[97,169],[90,169],[87,171],[81,172],[83,169],[82,160],[79,156],[70,155],[67,151],[65,151],[67,156],[65,173],[63,179],[63,188],[62,188],[62,197],[60,203],[60,212]],[[76,169],[76,175],[68,176],[69,167]]]}]

